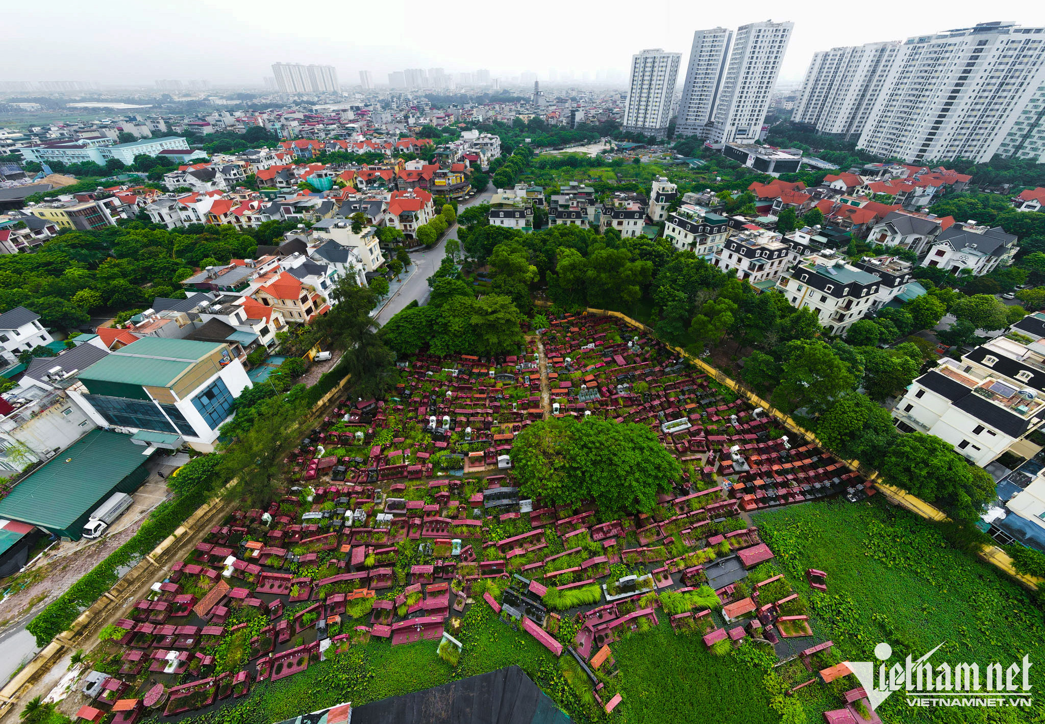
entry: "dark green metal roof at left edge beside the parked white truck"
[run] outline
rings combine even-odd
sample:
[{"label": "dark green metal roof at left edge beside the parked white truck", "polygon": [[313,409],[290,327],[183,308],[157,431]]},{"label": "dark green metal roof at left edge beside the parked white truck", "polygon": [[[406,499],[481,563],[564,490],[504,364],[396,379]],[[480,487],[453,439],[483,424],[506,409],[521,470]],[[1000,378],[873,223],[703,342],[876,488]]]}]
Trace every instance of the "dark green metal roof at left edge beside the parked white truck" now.
[{"label": "dark green metal roof at left edge beside the parked white truck", "polygon": [[130,435],[93,429],[0,500],[0,518],[66,529],[147,460]]}]

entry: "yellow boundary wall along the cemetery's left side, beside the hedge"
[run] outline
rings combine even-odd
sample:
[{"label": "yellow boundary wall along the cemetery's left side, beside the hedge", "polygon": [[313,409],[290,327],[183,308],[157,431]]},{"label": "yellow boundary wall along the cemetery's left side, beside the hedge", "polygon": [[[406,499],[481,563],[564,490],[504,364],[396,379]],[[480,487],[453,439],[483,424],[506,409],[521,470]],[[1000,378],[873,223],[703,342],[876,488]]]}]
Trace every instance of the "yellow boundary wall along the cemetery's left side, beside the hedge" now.
[{"label": "yellow boundary wall along the cemetery's left side, beside the hedge", "polygon": [[[349,379],[350,377],[346,376],[324,395],[312,406],[308,417],[303,418],[301,422],[310,422],[321,415],[324,408],[345,391]],[[233,480],[226,488],[234,484]],[[21,698],[32,688],[33,684],[40,681],[66,655],[66,649],[89,650],[96,643],[91,639],[94,629],[99,628],[99,624],[104,624],[114,611],[121,610],[126,606],[130,600],[139,593],[142,585],[152,585],[157,574],[164,573],[166,565],[173,562],[178,555],[184,551],[185,545],[194,544],[196,538],[202,539],[236,503],[236,500],[216,498],[198,508],[171,535],[153,548],[138,565],[129,570],[112,588],[102,593],[94,604],[80,613],[68,630],[56,635],[0,690],[0,718],[6,717],[11,709],[19,705]]]}]

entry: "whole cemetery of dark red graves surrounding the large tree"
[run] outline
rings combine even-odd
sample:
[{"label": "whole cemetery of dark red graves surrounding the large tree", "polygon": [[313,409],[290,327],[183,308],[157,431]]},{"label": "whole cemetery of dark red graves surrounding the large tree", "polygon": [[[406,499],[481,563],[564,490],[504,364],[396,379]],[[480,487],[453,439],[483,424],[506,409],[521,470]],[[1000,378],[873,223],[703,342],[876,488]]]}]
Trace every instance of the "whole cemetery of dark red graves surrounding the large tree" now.
[{"label": "whole cemetery of dark red graves surrounding the large tree", "polygon": [[[780,565],[749,514],[864,482],[617,320],[555,320],[540,343],[418,354],[388,399],[335,404],[285,461],[278,499],[233,512],[129,607],[95,657],[109,678],[89,708],[178,721],[353,657],[422,655],[408,651],[456,678],[502,636],[509,649],[483,660],[515,662],[515,647],[561,672],[549,695],[575,720],[627,710],[647,637],[652,658],[805,657],[794,686],[826,686],[816,667],[841,659],[807,591],[835,575]],[[551,416],[648,426],[681,475],[636,514],[528,497],[513,441]],[[826,705],[858,708],[849,690]]]}]

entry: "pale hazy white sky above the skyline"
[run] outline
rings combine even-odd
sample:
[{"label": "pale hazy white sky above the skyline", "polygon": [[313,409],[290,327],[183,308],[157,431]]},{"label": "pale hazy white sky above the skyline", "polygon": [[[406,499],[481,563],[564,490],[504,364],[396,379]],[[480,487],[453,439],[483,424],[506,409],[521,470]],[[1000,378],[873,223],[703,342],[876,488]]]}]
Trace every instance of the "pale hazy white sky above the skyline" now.
[{"label": "pale hazy white sky above the skyline", "polygon": [[[14,0],[11,0],[14,2]],[[813,51],[1015,20],[1045,25],[1045,3],[379,2],[125,3],[20,0],[5,20],[0,80],[87,80],[152,86],[158,78],[260,85],[275,62],[336,66],[343,84],[370,70],[487,68],[507,78],[550,69],[624,73],[632,53],[664,48],[689,60],[693,31],[760,20],[795,25],[781,73],[800,80]],[[681,73],[679,74],[681,81]]]}]

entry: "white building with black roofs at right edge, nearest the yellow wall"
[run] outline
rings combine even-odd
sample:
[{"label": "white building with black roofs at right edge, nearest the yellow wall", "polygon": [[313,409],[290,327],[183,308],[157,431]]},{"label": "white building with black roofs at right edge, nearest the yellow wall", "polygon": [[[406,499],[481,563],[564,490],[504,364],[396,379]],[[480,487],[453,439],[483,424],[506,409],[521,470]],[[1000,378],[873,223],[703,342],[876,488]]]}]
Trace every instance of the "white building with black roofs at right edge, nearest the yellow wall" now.
[{"label": "white building with black roofs at right edge, nearest the yellow wall", "polygon": [[944,357],[892,410],[897,427],[929,433],[983,466],[1041,426],[1045,345],[999,336],[961,360]]}]

